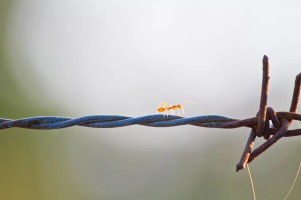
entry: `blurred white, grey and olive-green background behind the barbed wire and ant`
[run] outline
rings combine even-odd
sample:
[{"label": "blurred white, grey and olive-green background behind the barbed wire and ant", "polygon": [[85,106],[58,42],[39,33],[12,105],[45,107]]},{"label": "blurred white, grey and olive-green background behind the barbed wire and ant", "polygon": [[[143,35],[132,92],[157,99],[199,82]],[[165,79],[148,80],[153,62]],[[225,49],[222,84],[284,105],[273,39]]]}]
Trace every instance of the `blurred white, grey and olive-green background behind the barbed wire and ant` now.
[{"label": "blurred white, grey and olive-green background behind the barbed wire and ant", "polygon": [[[0,0],[0,117],[142,116],[160,101],[188,100],[198,105],[184,104],[184,116],[249,118],[264,54],[268,105],[288,111],[301,71],[300,8],[289,0]],[[253,199],[247,170],[235,172],[249,131],[1,130],[0,199]],[[284,198],[300,142],[282,138],[250,164],[257,199]],[[300,186],[298,177],[287,199],[299,199]]]}]

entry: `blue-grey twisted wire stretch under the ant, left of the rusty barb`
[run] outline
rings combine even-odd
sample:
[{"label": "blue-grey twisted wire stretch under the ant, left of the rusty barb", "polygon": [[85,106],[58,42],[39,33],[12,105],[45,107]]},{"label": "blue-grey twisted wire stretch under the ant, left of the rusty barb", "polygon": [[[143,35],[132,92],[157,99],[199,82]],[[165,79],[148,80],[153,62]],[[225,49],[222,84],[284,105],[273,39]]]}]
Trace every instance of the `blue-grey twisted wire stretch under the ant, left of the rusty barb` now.
[{"label": "blue-grey twisted wire stretch under the ant, left of the rusty barb", "polygon": [[[16,120],[0,118],[0,129],[11,127],[22,127],[30,129],[58,129],[74,125],[94,128],[113,128],[134,124],[152,127],[171,127],[191,124],[202,127],[231,128],[229,127],[229,125],[231,125],[231,123],[233,122],[235,123],[235,121],[240,121],[240,119],[222,115],[203,115],[194,117],[169,115],[168,118],[166,116],[163,117],[162,114],[153,114],[139,117],[122,115],[89,115],[78,118],[69,118],[62,116],[38,116]],[[240,124],[239,126],[237,126],[236,123],[235,127],[251,125],[253,124],[253,122],[254,121],[251,121],[248,124]]]}]

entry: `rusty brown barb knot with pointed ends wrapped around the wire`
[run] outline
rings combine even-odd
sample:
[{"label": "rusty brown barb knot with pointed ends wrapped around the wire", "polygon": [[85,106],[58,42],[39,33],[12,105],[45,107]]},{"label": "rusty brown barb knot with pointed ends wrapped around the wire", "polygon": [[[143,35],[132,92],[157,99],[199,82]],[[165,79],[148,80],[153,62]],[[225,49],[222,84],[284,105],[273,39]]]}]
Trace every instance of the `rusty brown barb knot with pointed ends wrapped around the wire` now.
[{"label": "rusty brown barb knot with pointed ends wrapped around the wire", "polygon": [[[289,109],[290,115],[277,113],[271,107],[267,107],[267,93],[268,93],[268,81],[269,81],[269,63],[268,57],[263,56],[263,76],[262,76],[262,87],[259,111],[256,116],[258,117],[258,124],[252,126],[249,138],[247,140],[242,156],[236,164],[236,171],[244,169],[248,163],[253,161],[258,155],[269,148],[271,145],[276,143],[282,136],[293,136],[287,132],[288,127],[292,123],[291,115],[296,112],[299,96],[300,96],[300,85],[301,85],[301,73],[296,75],[295,85]],[[281,115],[281,116],[280,116]],[[279,121],[280,119],[280,121]],[[269,120],[272,121],[272,126],[269,124]],[[255,138],[262,137],[267,139],[263,144],[251,152]]]}]

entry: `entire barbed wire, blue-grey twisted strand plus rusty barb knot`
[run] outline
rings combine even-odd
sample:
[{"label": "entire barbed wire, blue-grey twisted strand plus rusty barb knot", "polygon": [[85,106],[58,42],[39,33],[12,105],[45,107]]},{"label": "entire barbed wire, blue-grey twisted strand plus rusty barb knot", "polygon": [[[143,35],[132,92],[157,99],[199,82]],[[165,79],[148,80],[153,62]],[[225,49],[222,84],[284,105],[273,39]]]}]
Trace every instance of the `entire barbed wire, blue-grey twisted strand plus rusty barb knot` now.
[{"label": "entire barbed wire, blue-grey twisted strand plus rusty barb knot", "polygon": [[[153,114],[140,117],[122,115],[89,115],[78,118],[62,116],[38,116],[22,119],[0,118],[0,129],[12,127],[30,129],[59,129],[74,125],[94,127],[94,128],[114,128],[128,125],[144,125],[151,127],[171,127],[179,125],[194,125],[211,128],[238,128],[250,127],[251,132],[247,140],[242,156],[236,165],[236,171],[244,169],[248,163],[264,152],[271,145],[276,143],[281,137],[301,135],[300,129],[287,130],[292,120],[301,120],[301,114],[295,113],[300,96],[301,73],[296,76],[294,91],[292,95],[289,112],[275,112],[271,107],[267,107],[267,93],[269,81],[268,57],[263,56],[263,77],[260,97],[259,111],[255,117],[247,119],[237,119],[222,115],[203,115],[194,117],[183,117],[177,115],[164,116]],[[272,124],[270,125],[270,121]],[[267,141],[252,151],[252,147],[257,137],[264,137]]]}]

